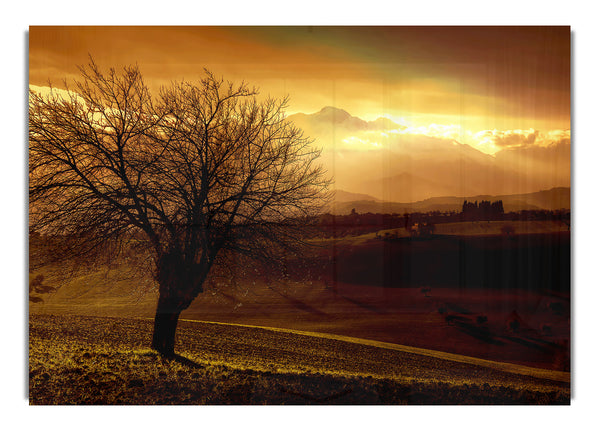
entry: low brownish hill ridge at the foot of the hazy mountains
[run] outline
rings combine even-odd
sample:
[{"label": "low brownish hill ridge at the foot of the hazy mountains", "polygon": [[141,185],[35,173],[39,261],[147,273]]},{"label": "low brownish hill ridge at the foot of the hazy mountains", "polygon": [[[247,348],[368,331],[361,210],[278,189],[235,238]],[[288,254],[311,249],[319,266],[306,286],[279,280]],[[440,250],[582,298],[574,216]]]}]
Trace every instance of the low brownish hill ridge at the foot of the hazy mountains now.
[{"label": "low brownish hill ridge at the foot of the hazy mountains", "polygon": [[[349,214],[354,208],[358,213],[397,213],[405,212],[429,212],[429,211],[460,211],[465,200],[474,201],[497,201],[502,200],[504,211],[521,210],[558,210],[571,208],[571,188],[556,187],[550,190],[542,190],[534,193],[523,193],[515,195],[475,195],[475,196],[442,196],[429,198],[416,202],[391,202],[378,201],[372,196],[358,193],[342,192],[343,199],[336,198],[330,207],[333,214]],[[350,197],[360,197],[349,200]]]}]

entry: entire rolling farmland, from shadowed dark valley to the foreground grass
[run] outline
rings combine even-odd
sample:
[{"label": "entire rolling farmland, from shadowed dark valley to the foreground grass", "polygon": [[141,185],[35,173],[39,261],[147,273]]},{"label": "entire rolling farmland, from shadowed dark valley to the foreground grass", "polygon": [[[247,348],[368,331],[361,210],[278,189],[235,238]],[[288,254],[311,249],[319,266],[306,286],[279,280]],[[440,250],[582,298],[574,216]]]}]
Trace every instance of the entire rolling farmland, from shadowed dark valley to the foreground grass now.
[{"label": "entire rolling farmland, from shadowed dark valley to the foreground grass", "polygon": [[569,240],[562,231],[342,238],[302,280],[206,286],[177,330],[176,352],[194,363],[148,349],[157,300],[148,279],[97,267],[30,303],[30,400],[565,404]]}]

